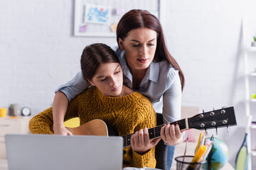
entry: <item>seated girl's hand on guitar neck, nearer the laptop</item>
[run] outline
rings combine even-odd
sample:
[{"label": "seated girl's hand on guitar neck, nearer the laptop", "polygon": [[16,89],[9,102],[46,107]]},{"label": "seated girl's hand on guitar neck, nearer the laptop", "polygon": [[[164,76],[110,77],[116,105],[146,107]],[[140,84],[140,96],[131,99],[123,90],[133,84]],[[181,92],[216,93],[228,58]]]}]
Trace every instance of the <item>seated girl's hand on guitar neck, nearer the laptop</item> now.
[{"label": "seated girl's hand on guitar neck, nearer the laptop", "polygon": [[161,138],[149,140],[148,128],[141,129],[131,137],[132,149],[138,154],[144,154],[161,140]]}]

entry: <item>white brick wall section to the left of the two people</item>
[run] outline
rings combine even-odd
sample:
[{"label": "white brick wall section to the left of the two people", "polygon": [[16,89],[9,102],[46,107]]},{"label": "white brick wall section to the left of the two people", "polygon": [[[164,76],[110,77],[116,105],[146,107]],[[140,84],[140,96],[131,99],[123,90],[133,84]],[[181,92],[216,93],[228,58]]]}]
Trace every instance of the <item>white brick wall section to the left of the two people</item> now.
[{"label": "white brick wall section to the left of the two people", "polygon": [[114,38],[73,37],[73,1],[0,1],[0,106],[51,106],[55,89],[80,70],[82,49]]}]

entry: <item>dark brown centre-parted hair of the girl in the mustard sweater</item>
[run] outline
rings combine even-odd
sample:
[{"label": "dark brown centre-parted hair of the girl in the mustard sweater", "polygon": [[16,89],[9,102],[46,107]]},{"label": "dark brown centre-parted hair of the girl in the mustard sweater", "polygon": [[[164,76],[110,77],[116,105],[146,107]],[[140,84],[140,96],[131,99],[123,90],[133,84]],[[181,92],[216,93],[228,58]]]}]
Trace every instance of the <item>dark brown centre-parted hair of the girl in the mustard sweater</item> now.
[{"label": "dark brown centre-parted hair of the girl in the mustard sweater", "polygon": [[111,47],[102,43],[86,46],[80,60],[82,77],[91,80],[100,65],[108,62],[119,63],[118,57]]}]

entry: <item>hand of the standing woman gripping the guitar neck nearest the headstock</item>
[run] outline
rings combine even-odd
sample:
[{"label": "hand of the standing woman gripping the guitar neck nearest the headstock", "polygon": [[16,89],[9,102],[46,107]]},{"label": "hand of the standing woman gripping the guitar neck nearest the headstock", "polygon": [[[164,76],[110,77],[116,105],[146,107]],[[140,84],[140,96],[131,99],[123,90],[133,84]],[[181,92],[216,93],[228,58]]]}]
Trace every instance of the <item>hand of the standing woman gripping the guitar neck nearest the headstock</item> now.
[{"label": "hand of the standing woman gripping the guitar neck nearest the headstock", "polygon": [[164,125],[161,128],[161,138],[168,145],[178,145],[183,141],[183,133],[181,132],[178,125]]}]

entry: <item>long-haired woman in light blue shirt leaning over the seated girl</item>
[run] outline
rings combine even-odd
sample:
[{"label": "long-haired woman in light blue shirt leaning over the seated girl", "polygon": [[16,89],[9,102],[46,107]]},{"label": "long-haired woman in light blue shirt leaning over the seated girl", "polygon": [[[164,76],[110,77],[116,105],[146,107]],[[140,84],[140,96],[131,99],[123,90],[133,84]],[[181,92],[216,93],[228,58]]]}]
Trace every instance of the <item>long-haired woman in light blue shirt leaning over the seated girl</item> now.
[{"label": "long-haired woman in light blue shirt leaning over the seated girl", "polygon": [[[117,25],[117,43],[114,50],[124,72],[124,84],[149,98],[155,111],[163,113],[164,123],[180,119],[181,91],[185,80],[181,68],[167,50],[159,20],[148,11],[125,13]],[[90,83],[82,79],[81,73],[60,86],[53,101],[53,118],[61,120],[68,101],[88,86]],[[54,127],[56,134],[70,134],[61,122]],[[174,146],[184,137],[178,125],[167,124],[161,129],[161,138]],[[168,149],[170,169],[174,147]]]}]

